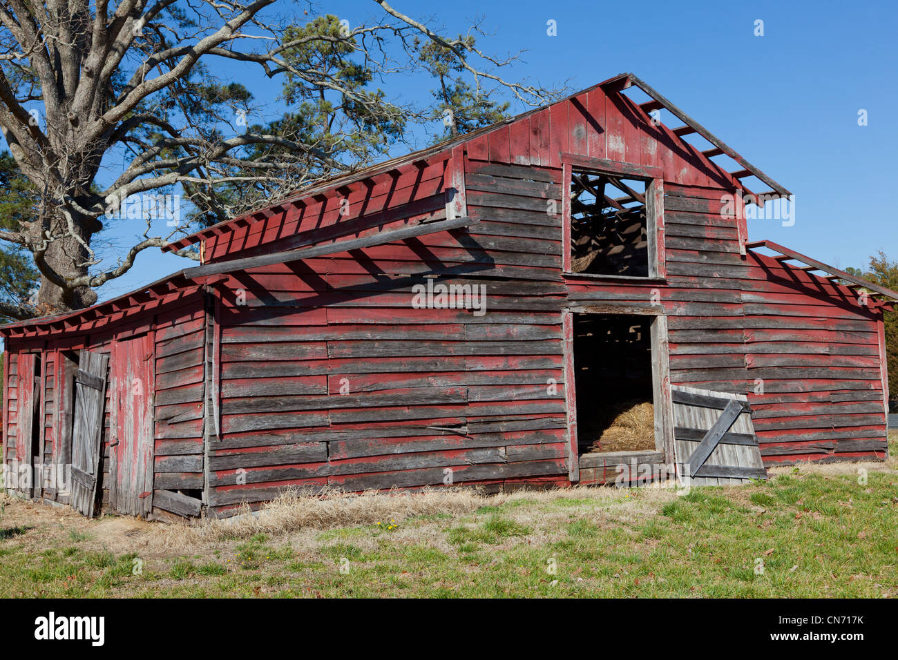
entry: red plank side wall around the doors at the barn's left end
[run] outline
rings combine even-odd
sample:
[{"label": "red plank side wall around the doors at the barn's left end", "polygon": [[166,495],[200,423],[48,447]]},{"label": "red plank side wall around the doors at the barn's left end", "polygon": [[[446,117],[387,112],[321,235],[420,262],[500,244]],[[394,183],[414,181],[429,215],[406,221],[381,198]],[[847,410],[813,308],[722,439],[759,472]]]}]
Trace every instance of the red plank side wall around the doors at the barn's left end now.
[{"label": "red plank side wall around the doors at the barn's left end", "polygon": [[[7,371],[4,376],[7,380],[4,389],[4,460],[10,462],[15,459],[18,381],[16,363],[20,351],[40,350],[43,357],[41,362],[46,368],[43,378],[45,392],[43,462],[45,465],[65,463],[70,461],[71,435],[69,433],[66,438],[61,436],[65,434],[66,423],[70,426],[72,419],[71,410],[66,411],[64,405],[64,392],[68,383],[65,379],[59,378],[64,368],[63,353],[72,351],[76,354],[81,348],[86,348],[96,353],[110,355],[114,333],[124,339],[151,328],[156,330],[154,488],[172,491],[201,490],[204,473],[202,417],[205,393],[203,378],[205,315],[202,297],[199,295],[195,295],[192,300],[184,301],[175,309],[145,315],[142,321],[133,321],[127,326],[103,328],[91,335],[47,341],[8,340]],[[71,374],[68,375],[70,379]],[[107,387],[102,426],[101,501],[105,508],[110,506],[110,442],[114,439],[114,433],[110,430],[112,392],[113,388]],[[196,495],[198,496],[198,493]],[[57,494],[56,488],[53,488],[49,480],[43,488],[42,497],[62,504],[67,503],[67,497]]]}]

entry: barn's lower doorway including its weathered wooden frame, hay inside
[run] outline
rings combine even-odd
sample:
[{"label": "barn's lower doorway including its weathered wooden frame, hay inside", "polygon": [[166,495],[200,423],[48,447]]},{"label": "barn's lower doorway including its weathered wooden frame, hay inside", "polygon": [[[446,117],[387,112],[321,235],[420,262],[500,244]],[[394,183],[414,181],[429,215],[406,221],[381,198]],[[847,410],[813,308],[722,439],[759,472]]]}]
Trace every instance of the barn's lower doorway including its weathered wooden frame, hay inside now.
[{"label": "barn's lower doorway including its weathered wooden frame, hay inside", "polygon": [[613,308],[568,313],[568,425],[578,480],[613,480],[617,462],[660,464],[673,449],[665,317]]}]

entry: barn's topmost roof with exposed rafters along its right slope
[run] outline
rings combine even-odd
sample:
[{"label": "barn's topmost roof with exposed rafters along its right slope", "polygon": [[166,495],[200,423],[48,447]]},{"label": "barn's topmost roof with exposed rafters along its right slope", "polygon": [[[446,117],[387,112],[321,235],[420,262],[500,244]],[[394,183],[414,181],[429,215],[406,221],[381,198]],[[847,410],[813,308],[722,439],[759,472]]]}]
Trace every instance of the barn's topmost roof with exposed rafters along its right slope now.
[{"label": "barn's topmost roof with exposed rafters along its right slope", "polygon": [[[671,112],[675,118],[681,120],[682,126],[671,128],[670,132],[674,136],[674,139],[678,140],[684,149],[693,150],[693,145],[687,143],[683,137],[691,134],[698,134],[708,141],[710,148],[705,151],[700,152],[700,157],[709,161],[709,159],[719,156],[726,155],[733,159],[735,163],[739,165],[738,170],[734,172],[728,172],[729,177],[732,179],[732,184],[736,189],[742,189],[744,194],[752,196],[754,198],[754,193],[752,190],[748,189],[743,180],[749,177],[756,177],[758,180],[761,180],[764,184],[770,187],[770,191],[762,192],[761,194],[766,196],[767,198],[779,197],[779,196],[787,196],[791,193],[780,185],[777,181],[771,179],[767,174],[762,172],[758,167],[754,166],[752,163],[749,163],[745,158],[738,154],[735,149],[726,145],[723,140],[714,136],[707,128],[704,128],[697,122],[695,119],[692,119],[685,112],[680,110],[677,106],[674,105],[671,101],[669,101],[665,96],[661,93],[657,92],[655,88],[651,87],[642,79],[638,78],[633,74],[619,74],[615,75],[608,80],[594,84],[591,87],[587,87],[585,90],[581,90],[580,92],[576,92],[568,96],[566,99],[562,99],[561,101],[557,101],[550,105],[558,105],[559,103],[564,103],[568,101],[572,101],[577,99],[577,97],[582,96],[585,92],[589,92],[596,88],[602,88],[603,92],[609,94],[622,94],[625,90],[636,87],[642,92],[645,92],[649,97],[650,101],[639,104],[638,110],[641,111],[644,115],[644,119],[647,121],[655,122],[656,125],[659,125],[656,119],[652,118],[649,113],[654,112],[655,110],[661,110],[662,108]],[[629,101],[629,99],[628,99]],[[524,119],[525,117],[529,117],[541,110],[545,110],[545,108],[534,108],[533,110],[528,110],[527,112],[516,115],[515,117],[505,119],[503,121],[497,122],[496,124],[492,124],[490,126],[479,128],[475,131],[471,131],[470,133],[466,133],[462,136],[457,136],[452,139],[441,142],[437,145],[429,146],[426,149],[421,149],[416,152],[412,152],[410,154],[405,154],[399,156],[397,158],[393,158],[389,161],[385,161],[383,163],[377,163],[375,165],[371,165],[369,167],[365,167],[364,169],[353,171],[353,172],[345,172],[341,173],[337,176],[331,177],[327,180],[322,180],[318,183],[315,183],[313,186],[300,189],[295,193],[292,193],[288,197],[280,200],[277,204],[269,205],[268,207],[263,207],[250,213],[243,214],[242,216],[237,216],[230,220],[225,220],[221,223],[214,224],[210,227],[199,230],[196,233],[191,233],[184,238],[181,238],[178,241],[170,242],[168,245],[164,245],[163,251],[176,251],[182,250],[184,248],[189,247],[190,245],[200,242],[207,238],[214,238],[216,235],[221,233],[226,233],[233,231],[234,229],[256,224],[260,222],[264,222],[272,215],[273,212],[277,212],[285,207],[289,207],[290,205],[295,205],[303,202],[305,199],[314,198],[315,196],[327,193],[331,190],[339,189],[343,186],[348,186],[352,183],[357,183],[361,180],[371,179],[372,177],[383,174],[384,172],[392,172],[398,170],[402,166],[407,166],[411,163],[417,163],[421,161],[427,161],[430,158],[434,158],[438,154],[445,154],[448,157],[448,154],[452,151],[454,146],[462,145],[464,143],[471,142],[480,136],[484,136],[488,133],[491,133],[498,128],[502,128],[504,126],[508,126],[510,124],[514,124],[520,119]],[[664,126],[663,124],[660,124]]]}]

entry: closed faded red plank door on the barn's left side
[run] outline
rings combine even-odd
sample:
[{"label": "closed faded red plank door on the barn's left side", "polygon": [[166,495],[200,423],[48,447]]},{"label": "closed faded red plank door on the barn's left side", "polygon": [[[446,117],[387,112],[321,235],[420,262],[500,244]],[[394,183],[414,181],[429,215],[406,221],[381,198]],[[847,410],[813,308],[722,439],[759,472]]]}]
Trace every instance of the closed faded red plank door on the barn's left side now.
[{"label": "closed faded red plank door on the barn's left side", "polygon": [[110,447],[110,501],[121,514],[153,507],[154,342],[150,334],[112,345],[115,437]]}]

